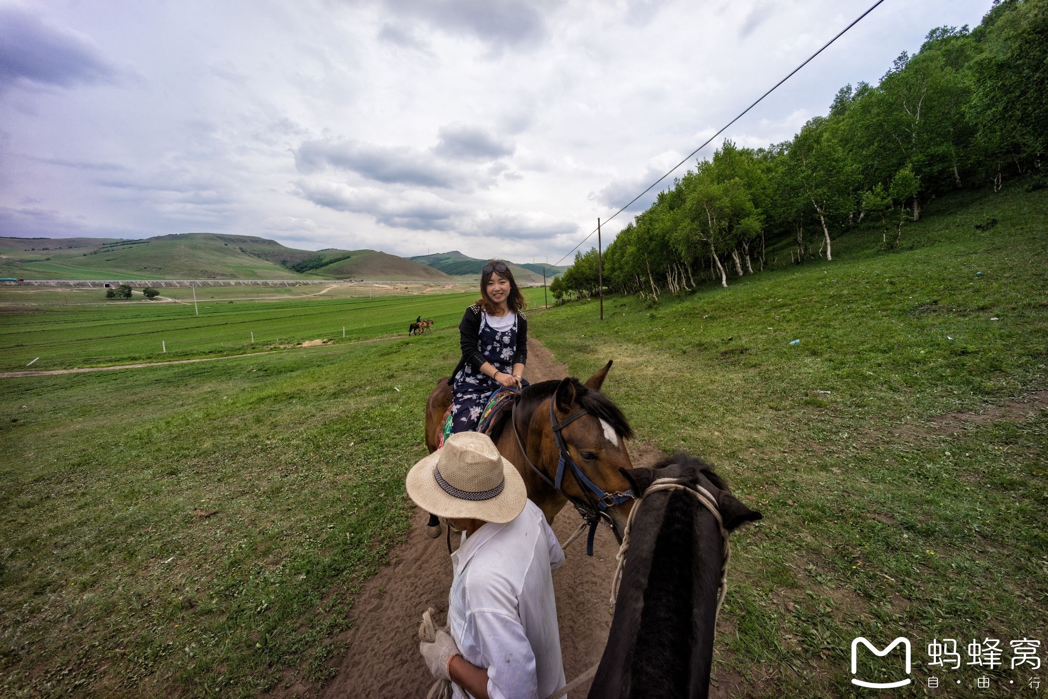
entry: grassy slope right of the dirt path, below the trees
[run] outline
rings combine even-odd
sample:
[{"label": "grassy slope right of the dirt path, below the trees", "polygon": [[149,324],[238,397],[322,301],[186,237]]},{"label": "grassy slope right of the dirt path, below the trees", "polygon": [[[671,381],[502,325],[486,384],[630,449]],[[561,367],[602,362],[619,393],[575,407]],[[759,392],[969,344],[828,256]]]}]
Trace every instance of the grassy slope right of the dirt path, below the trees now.
[{"label": "grassy slope right of the dirt path, below the trees", "polygon": [[[763,511],[735,538],[718,639],[739,696],[849,694],[857,635],[911,638],[918,677],[934,638],[1048,641],[1046,223],[1043,192],[970,194],[897,252],[871,227],[833,262],[608,299],[603,323],[592,300],[536,318],[572,373],[615,359],[640,439],[716,463]],[[939,675],[969,696],[982,672]]]}]

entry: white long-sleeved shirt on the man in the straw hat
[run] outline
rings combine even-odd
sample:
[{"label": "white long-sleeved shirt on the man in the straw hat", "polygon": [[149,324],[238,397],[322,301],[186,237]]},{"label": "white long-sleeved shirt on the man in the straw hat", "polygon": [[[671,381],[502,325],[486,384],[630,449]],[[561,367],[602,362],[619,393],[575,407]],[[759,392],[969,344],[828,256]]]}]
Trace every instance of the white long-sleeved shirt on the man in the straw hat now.
[{"label": "white long-sleeved shirt on the man in the straw hat", "polygon": [[[512,522],[483,524],[452,553],[452,638],[463,658],[487,670],[492,699],[542,699],[565,685],[550,575],[562,563],[530,500]],[[456,699],[472,696],[453,687]]]}]

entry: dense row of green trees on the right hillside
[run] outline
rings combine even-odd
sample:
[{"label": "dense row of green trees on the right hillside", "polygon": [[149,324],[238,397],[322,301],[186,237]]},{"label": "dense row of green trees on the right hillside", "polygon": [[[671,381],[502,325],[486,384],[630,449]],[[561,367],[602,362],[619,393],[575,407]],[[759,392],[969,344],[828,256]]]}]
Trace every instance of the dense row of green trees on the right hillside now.
[{"label": "dense row of green trees on the right hillside", "polygon": [[[898,246],[933,198],[1008,178],[1043,183],[1048,148],[1048,0],[995,0],[975,29],[929,32],[877,85],[846,85],[829,114],[768,148],[729,140],[674,180],[604,253],[609,290],[657,300],[704,281],[833,259],[833,240],[864,221]],[[789,244],[783,248],[783,241]],[[598,289],[597,252],[575,254],[558,300]]]}]

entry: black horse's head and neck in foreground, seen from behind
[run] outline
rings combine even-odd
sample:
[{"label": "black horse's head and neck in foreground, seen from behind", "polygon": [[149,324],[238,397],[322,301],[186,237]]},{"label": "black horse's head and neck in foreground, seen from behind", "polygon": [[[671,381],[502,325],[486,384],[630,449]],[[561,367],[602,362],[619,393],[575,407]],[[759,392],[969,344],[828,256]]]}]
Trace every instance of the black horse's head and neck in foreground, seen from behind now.
[{"label": "black horse's head and neck in foreground, seen from behind", "polygon": [[[725,540],[695,486],[713,496],[724,529],[761,519],[698,459],[678,454],[624,472],[641,498],[630,524],[626,565],[608,646],[591,699],[704,698],[717,625]],[[691,488],[645,492],[656,479]]]}]

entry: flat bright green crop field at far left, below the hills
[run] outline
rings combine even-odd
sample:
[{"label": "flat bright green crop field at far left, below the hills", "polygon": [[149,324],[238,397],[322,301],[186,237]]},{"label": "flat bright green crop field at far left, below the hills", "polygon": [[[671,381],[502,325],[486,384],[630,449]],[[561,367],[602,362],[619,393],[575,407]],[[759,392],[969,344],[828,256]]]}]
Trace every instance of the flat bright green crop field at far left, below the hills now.
[{"label": "flat bright green crop field at far left, below the hills", "polygon": [[[177,291],[184,299],[190,290]],[[249,287],[223,289],[227,291],[250,292]],[[5,299],[16,293],[7,291]],[[93,293],[105,301],[102,290]],[[541,303],[541,288],[524,293],[530,303]],[[57,300],[57,296],[51,298]],[[32,369],[63,369],[237,354],[314,340],[342,342],[343,328],[346,341],[407,335],[409,324],[418,315],[434,319],[435,331],[451,330],[458,327],[463,308],[474,300],[471,293],[198,299],[199,315],[192,304],[145,300],[108,306],[4,306],[0,301],[0,370],[25,368],[35,357],[40,358]]]}]

